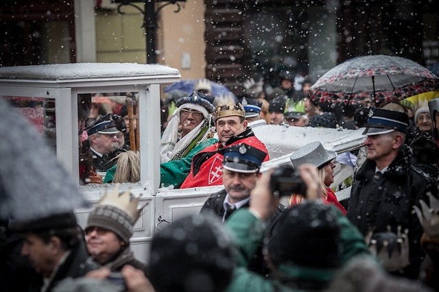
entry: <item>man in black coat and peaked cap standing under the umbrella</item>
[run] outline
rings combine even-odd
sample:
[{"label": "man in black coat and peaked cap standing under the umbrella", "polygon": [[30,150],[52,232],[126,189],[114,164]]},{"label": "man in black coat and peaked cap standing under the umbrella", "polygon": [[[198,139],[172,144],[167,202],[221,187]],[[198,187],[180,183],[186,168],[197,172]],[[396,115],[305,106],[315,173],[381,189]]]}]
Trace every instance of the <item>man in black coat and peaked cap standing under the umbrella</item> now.
[{"label": "man in black coat and peaked cap standing under the umbrella", "polygon": [[364,236],[371,236],[371,250],[388,271],[417,278],[423,228],[413,208],[428,191],[437,190],[410,162],[412,151],[404,143],[408,125],[405,112],[372,109],[364,131],[367,160],[355,174],[347,216]]}]

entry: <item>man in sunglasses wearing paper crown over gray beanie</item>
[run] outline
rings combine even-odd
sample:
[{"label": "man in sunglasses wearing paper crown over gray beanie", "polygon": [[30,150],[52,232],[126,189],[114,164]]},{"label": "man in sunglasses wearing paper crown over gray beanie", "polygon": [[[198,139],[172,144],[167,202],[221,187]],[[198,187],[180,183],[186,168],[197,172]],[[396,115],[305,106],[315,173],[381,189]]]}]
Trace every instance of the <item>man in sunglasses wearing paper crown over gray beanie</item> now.
[{"label": "man in sunglasses wearing paper crown over gray beanie", "polygon": [[94,262],[110,271],[121,271],[125,265],[145,271],[130,249],[133,226],[141,212],[138,203],[139,198],[133,198],[130,191],[119,193],[119,185],[99,200],[85,228],[88,253]]}]

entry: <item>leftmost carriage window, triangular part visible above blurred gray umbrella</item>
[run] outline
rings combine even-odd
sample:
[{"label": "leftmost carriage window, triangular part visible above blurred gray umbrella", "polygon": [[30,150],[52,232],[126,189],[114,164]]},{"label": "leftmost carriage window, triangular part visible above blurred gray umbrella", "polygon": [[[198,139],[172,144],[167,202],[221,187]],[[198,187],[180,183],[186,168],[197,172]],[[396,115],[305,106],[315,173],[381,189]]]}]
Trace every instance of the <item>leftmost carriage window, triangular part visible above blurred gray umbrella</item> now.
[{"label": "leftmost carriage window, triangular part visible above blurred gray umbrella", "polygon": [[56,115],[55,99],[40,97],[5,97],[35,129],[44,135],[47,142],[56,151]]}]

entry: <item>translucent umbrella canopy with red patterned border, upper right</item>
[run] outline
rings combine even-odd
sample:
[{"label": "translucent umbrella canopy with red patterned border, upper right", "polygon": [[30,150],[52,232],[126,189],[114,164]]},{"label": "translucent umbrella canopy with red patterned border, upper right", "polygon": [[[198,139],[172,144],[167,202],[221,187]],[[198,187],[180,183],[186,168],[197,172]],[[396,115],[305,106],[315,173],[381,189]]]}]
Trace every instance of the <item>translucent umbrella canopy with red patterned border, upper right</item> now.
[{"label": "translucent umbrella canopy with red patterned border, upper right", "polygon": [[439,78],[420,64],[401,57],[353,58],[335,66],[309,89],[311,99],[379,106],[434,91]]}]

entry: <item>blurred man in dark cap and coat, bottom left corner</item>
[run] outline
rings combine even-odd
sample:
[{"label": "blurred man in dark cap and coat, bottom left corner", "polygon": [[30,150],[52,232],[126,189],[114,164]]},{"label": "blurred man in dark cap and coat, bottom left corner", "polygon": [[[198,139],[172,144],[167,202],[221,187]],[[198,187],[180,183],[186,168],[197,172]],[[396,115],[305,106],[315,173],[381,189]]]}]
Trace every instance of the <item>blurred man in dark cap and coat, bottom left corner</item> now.
[{"label": "blurred man in dark cap and coat, bottom left corner", "polygon": [[87,261],[82,230],[73,212],[12,221],[10,229],[23,233],[21,255],[29,258],[37,273],[29,291],[52,291],[61,280],[85,276],[99,267]]}]

